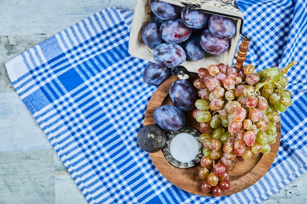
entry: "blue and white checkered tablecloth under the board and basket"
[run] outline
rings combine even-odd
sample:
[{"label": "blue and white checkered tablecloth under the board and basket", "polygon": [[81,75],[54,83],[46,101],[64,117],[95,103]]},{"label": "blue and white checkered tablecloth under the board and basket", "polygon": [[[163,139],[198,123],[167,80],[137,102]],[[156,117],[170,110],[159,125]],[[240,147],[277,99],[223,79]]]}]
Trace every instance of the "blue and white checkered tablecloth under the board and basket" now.
[{"label": "blue and white checkered tablecloth under the board and basket", "polygon": [[247,63],[256,69],[296,60],[293,105],[281,113],[281,145],[270,170],[237,194],[208,198],[167,181],[137,145],[156,87],[147,62],[128,54],[131,11],[104,9],[6,63],[28,109],[90,204],[261,203],[307,170],[307,2],[241,0]]}]

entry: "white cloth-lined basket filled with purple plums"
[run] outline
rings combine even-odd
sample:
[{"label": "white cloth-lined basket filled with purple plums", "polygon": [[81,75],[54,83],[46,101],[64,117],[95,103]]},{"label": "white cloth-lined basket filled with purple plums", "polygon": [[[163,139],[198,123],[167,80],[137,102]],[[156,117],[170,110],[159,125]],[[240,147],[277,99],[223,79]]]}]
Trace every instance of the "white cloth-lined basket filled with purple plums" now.
[{"label": "white cloth-lined basket filled with purple plums", "polygon": [[[233,3],[234,0],[136,0],[129,53],[167,67],[182,65],[192,72],[211,64],[224,63],[230,67],[243,24],[243,15]],[[193,16],[191,11],[201,12]],[[155,23],[151,23],[153,20]],[[141,32],[144,27],[146,32]],[[167,44],[178,44],[185,52],[180,56],[164,55],[161,59],[161,52],[169,48],[174,49],[169,53],[177,53],[176,46]]]}]

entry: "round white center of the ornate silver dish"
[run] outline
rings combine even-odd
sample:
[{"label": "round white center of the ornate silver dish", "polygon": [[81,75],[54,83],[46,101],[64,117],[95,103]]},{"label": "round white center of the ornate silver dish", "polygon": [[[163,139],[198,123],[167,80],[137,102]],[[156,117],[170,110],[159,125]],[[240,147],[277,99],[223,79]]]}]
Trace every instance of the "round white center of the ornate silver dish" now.
[{"label": "round white center of the ornate silver dish", "polygon": [[174,159],[188,163],[197,156],[198,141],[188,133],[179,133],[171,140],[170,153]]}]

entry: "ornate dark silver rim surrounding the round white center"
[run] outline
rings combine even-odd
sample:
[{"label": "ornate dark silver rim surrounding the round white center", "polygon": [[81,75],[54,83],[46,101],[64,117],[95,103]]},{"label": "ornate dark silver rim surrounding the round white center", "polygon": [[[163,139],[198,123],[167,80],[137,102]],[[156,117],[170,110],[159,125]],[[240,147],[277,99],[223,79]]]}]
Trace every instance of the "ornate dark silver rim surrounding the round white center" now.
[{"label": "ornate dark silver rim surrounding the round white center", "polygon": [[[188,134],[194,136],[196,138],[197,142],[198,142],[197,156],[192,161],[190,161],[188,163],[182,163],[182,162],[174,159],[173,156],[171,155],[171,152],[170,152],[170,144],[171,144],[172,139],[180,133],[188,133]],[[204,156],[204,153],[203,153],[204,144],[199,141],[200,136],[201,136],[201,134],[196,129],[193,129],[193,128],[190,128],[190,127],[185,127],[185,126],[183,126],[181,129],[179,129],[177,131],[169,132],[166,136],[166,142],[165,142],[165,145],[163,147],[163,154],[164,154],[165,159],[170,164],[172,164],[173,166],[176,166],[176,167],[182,168],[182,169],[190,168],[192,166],[195,166],[196,164],[198,164],[200,162],[200,160]]]}]

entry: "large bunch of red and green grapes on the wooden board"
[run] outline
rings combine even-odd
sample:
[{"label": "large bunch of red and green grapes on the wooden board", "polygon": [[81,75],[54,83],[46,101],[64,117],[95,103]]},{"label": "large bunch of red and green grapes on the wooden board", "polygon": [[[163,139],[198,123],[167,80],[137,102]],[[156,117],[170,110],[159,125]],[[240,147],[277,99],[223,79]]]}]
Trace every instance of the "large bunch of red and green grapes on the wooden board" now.
[{"label": "large bunch of red and green grapes on the wooden board", "polygon": [[200,141],[205,146],[198,174],[202,192],[221,196],[230,189],[227,171],[237,160],[270,153],[270,144],[276,142],[276,123],[281,120],[277,111],[284,112],[292,104],[283,74],[295,64],[257,73],[253,65],[199,68],[200,78],[193,84],[201,99],[196,100],[192,115],[200,122]]}]

